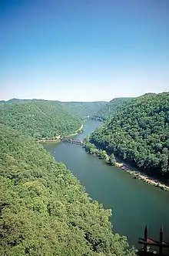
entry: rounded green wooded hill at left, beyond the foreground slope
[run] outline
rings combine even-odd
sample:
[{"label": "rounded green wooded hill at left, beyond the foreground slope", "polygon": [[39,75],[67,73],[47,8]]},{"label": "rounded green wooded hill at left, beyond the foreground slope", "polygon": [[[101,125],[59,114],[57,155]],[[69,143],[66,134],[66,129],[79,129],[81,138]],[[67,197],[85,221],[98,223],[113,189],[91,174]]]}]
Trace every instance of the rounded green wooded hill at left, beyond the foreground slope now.
[{"label": "rounded green wooded hill at left, beyond the foreground slope", "polygon": [[75,133],[81,120],[60,103],[21,102],[0,104],[0,123],[7,124],[36,139],[55,139]]}]

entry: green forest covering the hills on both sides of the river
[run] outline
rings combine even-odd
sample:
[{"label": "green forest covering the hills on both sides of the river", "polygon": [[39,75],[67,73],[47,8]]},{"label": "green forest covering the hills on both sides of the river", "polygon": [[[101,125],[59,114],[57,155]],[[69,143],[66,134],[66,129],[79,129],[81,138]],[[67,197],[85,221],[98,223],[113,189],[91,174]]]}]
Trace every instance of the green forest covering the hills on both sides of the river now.
[{"label": "green forest covering the hills on both sides of the river", "polygon": [[[85,139],[85,150],[108,164],[119,157],[168,180],[169,93],[113,101],[114,107],[104,110],[107,120]],[[114,234],[111,210],[91,200],[36,141],[78,130],[80,116],[89,110],[77,104],[36,99],[0,104],[0,254],[135,255],[127,238]]]}]

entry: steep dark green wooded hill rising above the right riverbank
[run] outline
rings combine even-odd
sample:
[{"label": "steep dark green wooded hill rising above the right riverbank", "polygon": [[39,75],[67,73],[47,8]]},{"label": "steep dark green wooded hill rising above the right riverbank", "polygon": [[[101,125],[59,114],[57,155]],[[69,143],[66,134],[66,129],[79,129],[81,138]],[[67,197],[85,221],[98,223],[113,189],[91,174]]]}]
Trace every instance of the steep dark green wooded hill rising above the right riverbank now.
[{"label": "steep dark green wooded hill rising above the right riverbank", "polygon": [[91,141],[146,173],[168,179],[169,93],[133,99],[98,128]]}]

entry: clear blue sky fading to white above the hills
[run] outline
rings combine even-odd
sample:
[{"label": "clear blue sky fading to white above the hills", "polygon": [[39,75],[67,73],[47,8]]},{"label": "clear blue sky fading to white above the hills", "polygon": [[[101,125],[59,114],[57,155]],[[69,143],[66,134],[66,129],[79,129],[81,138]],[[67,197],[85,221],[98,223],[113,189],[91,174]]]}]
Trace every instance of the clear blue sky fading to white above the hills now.
[{"label": "clear blue sky fading to white above the hills", "polygon": [[169,91],[169,0],[0,2],[0,99]]}]

